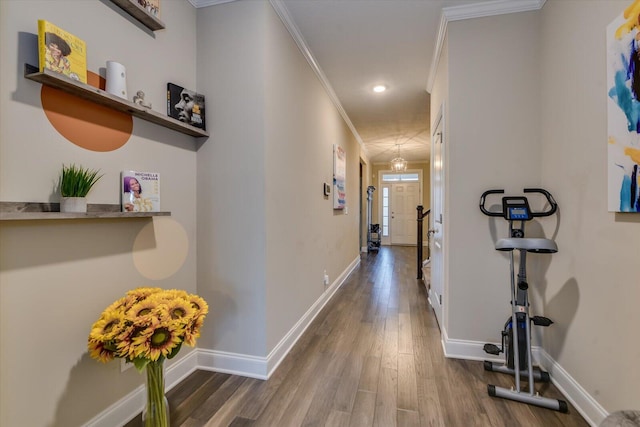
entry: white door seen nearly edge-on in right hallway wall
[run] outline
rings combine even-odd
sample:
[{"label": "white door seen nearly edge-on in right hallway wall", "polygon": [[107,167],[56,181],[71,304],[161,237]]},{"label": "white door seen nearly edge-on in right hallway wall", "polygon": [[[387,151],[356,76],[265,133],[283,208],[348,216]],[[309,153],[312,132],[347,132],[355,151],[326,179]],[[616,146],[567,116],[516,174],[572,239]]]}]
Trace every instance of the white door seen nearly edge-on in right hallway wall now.
[{"label": "white door seen nearly edge-on in right hallway wall", "polygon": [[431,176],[433,207],[429,222],[431,222],[431,287],[429,288],[429,302],[438,319],[440,329],[444,311],[444,195],[445,195],[445,168],[444,168],[444,118],[442,107],[431,136]]}]

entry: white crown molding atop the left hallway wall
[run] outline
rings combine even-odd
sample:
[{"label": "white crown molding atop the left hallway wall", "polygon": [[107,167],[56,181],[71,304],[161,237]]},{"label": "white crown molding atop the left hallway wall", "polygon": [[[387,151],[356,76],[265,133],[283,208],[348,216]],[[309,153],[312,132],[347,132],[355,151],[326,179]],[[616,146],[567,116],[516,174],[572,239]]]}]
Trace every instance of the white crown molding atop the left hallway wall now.
[{"label": "white crown molding atop the left hallway wall", "polygon": [[311,69],[316,73],[316,76],[318,77],[318,79],[320,80],[320,83],[322,84],[325,91],[327,92],[327,95],[329,95],[331,102],[333,102],[333,105],[336,107],[336,109],[342,116],[342,119],[345,121],[345,123],[351,130],[351,133],[353,134],[354,138],[356,139],[356,141],[358,141],[358,144],[360,144],[360,149],[365,153],[365,156],[368,157],[367,150],[364,146],[364,143],[362,142],[362,138],[360,137],[360,134],[358,133],[358,131],[356,130],[356,127],[351,122],[351,119],[347,115],[347,112],[342,107],[342,104],[340,103],[340,99],[338,99],[338,95],[336,95],[335,91],[333,90],[333,87],[331,86],[331,83],[329,83],[329,80],[325,76],[324,71],[322,71],[320,64],[318,64],[318,61],[316,61],[316,58],[313,56],[313,53],[311,53],[311,49],[309,49],[307,42],[305,41],[304,37],[302,36],[302,33],[298,29],[298,26],[295,24],[295,22],[293,22],[293,19],[289,14],[289,10],[285,6],[284,2],[282,2],[281,0],[269,0],[269,3],[271,3],[271,6],[275,10],[278,17],[280,17],[280,20],[284,24],[285,28],[287,29],[287,31],[289,31],[289,34],[291,34],[291,37],[296,42],[296,45],[298,45],[298,49],[300,49],[300,52],[302,53],[302,55],[305,57],[305,59],[311,66]]}]

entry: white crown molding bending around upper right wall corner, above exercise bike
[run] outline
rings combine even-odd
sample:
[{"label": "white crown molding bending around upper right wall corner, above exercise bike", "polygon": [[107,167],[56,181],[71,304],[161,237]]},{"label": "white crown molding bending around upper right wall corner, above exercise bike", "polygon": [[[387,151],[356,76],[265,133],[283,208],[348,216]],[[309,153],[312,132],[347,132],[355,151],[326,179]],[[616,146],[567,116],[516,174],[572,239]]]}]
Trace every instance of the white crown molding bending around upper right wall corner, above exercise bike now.
[{"label": "white crown molding bending around upper right wall corner, above exercise bike", "polygon": [[436,39],[433,57],[431,58],[431,67],[429,69],[429,78],[427,80],[427,92],[431,93],[433,89],[433,80],[435,79],[436,69],[440,62],[440,54],[442,53],[442,45],[444,37],[447,34],[447,24],[451,21],[461,21],[463,19],[482,18],[485,16],[505,15],[507,13],[528,12],[532,10],[540,10],[546,0],[495,0],[486,3],[476,3],[461,6],[451,6],[442,9],[440,14],[440,27],[438,28],[438,37]]}]

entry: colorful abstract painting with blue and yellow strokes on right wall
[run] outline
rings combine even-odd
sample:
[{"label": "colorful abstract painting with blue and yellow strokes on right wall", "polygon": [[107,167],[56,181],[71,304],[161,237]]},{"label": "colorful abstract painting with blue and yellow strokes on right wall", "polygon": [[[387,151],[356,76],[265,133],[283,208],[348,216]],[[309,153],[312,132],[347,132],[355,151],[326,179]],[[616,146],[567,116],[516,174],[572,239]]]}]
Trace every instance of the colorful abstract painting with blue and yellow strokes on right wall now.
[{"label": "colorful abstract painting with blue and yellow strokes on right wall", "polygon": [[608,207],[640,212],[640,0],[607,27]]}]

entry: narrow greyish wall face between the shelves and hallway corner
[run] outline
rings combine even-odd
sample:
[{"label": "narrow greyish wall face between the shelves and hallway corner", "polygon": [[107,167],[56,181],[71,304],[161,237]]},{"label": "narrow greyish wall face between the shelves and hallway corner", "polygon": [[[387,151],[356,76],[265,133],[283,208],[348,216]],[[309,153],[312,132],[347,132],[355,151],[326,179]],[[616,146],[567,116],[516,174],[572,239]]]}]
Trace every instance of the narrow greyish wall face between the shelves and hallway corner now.
[{"label": "narrow greyish wall face between the shelves and hallway corner", "polygon": [[212,305],[200,346],[266,353],[263,2],[198,10],[198,87],[212,135],[198,150],[198,290]]}]

